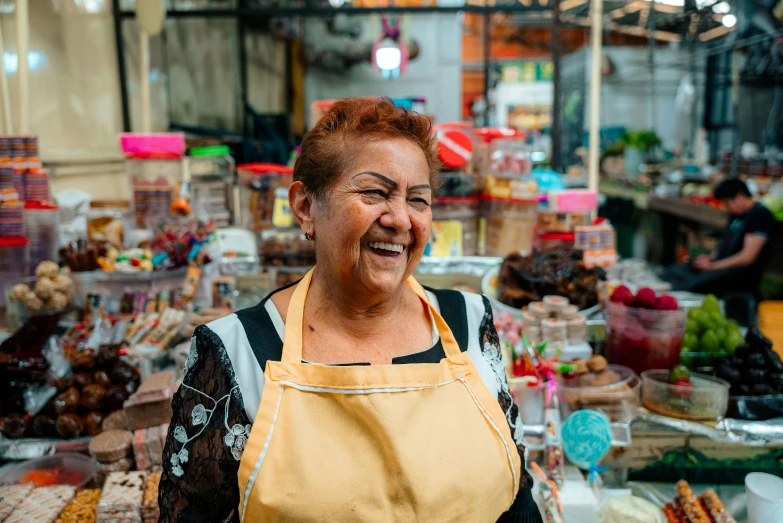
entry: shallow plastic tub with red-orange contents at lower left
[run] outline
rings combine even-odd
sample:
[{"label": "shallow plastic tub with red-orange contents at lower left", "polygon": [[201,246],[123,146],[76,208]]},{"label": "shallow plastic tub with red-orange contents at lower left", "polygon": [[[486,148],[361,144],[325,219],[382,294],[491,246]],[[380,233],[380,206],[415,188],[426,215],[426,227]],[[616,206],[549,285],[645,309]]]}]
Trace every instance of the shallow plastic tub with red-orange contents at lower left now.
[{"label": "shallow plastic tub with red-orange contents at lower left", "polygon": [[95,475],[95,462],[91,458],[75,452],[44,456],[6,469],[0,476],[0,484],[25,483],[25,475],[37,471],[57,471],[52,475],[52,485],[73,485],[82,488],[87,486]]}]

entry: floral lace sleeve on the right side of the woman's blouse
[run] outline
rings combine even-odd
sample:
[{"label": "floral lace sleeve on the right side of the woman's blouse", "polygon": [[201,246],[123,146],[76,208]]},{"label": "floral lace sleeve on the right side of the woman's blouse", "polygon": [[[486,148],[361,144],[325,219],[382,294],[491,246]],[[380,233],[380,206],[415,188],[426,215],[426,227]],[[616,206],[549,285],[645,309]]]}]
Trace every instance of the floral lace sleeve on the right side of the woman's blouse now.
[{"label": "floral lace sleeve on the right side of the woman's blouse", "polygon": [[542,523],[541,512],[533,501],[533,478],[525,470],[527,464],[527,450],[524,445],[522,421],[519,419],[519,409],[511,398],[506,382],[506,371],[503,366],[503,357],[500,352],[500,338],[495,330],[495,323],[492,319],[492,305],[484,297],[484,317],[479,327],[479,343],[482,347],[482,353],[489,362],[499,381],[498,403],[500,408],[506,413],[511,435],[517,445],[519,458],[523,463],[522,481],[520,482],[519,492],[514,503],[509,507],[508,512],[504,513],[498,523]]}]

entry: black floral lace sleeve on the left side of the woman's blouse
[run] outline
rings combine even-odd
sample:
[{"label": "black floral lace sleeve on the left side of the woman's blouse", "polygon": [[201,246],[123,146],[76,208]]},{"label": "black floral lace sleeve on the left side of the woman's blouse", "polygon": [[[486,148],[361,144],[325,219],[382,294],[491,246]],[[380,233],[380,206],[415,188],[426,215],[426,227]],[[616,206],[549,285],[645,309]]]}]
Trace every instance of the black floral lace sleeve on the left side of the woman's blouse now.
[{"label": "black floral lace sleeve on the left side of the woman's blouse", "polygon": [[237,471],[250,433],[231,362],[208,327],[196,329],[163,451],[161,522],[239,521]]}]

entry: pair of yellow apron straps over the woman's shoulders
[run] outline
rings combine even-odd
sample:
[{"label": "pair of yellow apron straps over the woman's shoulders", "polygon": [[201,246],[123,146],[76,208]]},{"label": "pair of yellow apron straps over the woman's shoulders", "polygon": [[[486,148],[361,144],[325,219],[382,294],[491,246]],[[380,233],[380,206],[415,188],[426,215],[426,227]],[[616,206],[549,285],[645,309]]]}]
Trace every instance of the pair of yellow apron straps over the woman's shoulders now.
[{"label": "pair of yellow apron straps over the woman's shoulders", "polygon": [[[302,281],[296,286],[291,301],[288,304],[288,313],[286,314],[285,321],[285,336],[283,339],[283,356],[281,361],[289,363],[301,363],[302,362],[302,332],[304,326],[304,306],[307,298],[307,292],[310,290],[310,283],[313,280],[313,271],[311,269],[302,278]],[[419,285],[413,276],[408,278],[405,282],[416,296],[422,300],[430,310],[435,326],[438,329],[440,335],[441,344],[443,345],[443,352],[446,357],[458,356],[460,353],[460,347],[457,344],[454,334],[451,332],[446,321],[440,315],[440,313],[432,306],[427,299],[427,293],[424,292],[424,288]]]}]

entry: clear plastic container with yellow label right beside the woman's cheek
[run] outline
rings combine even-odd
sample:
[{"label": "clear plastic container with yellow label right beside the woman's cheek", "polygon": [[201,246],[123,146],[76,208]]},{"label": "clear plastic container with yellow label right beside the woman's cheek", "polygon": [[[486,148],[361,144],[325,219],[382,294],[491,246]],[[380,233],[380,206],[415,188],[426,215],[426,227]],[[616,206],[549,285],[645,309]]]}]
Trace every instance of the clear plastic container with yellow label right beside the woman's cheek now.
[{"label": "clear plastic container with yellow label right beside the woman's cheek", "polygon": [[430,255],[478,254],[479,199],[437,198],[432,202]]}]

